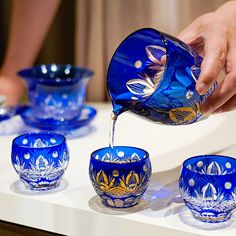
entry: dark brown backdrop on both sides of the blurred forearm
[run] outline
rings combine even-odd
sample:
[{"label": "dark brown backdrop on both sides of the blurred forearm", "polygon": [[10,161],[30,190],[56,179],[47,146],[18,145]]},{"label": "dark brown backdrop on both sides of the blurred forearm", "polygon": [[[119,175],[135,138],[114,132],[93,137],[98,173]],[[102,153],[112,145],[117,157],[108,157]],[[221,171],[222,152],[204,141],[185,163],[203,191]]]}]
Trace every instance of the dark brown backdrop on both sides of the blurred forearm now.
[{"label": "dark brown backdrop on both sides of the blurred forearm", "polygon": [[[61,1],[57,15],[35,64],[74,64],[75,3],[76,0]],[[7,45],[12,4],[12,0],[0,0],[0,66]]]}]

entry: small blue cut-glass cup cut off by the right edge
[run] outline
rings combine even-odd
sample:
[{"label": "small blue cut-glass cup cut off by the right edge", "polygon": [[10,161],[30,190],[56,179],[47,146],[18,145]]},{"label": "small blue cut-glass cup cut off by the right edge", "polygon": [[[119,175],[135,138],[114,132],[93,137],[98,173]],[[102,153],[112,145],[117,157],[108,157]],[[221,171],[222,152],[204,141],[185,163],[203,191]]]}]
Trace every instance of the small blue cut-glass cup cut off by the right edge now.
[{"label": "small blue cut-glass cup cut off by the right edge", "polygon": [[220,155],[187,159],[179,188],[196,219],[208,223],[229,220],[236,208],[236,159]]}]

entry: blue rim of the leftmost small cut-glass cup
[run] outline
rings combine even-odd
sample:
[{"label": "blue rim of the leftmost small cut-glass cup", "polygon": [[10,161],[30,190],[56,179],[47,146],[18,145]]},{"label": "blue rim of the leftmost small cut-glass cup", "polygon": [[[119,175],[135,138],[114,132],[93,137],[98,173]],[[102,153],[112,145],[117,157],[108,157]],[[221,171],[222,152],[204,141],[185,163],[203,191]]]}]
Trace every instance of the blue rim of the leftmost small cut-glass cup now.
[{"label": "blue rim of the leftmost small cut-glass cup", "polygon": [[[20,138],[27,138],[27,137],[30,137],[32,135],[52,135],[51,138],[53,137],[60,137],[62,138],[62,140],[60,141],[60,143],[57,143],[57,144],[52,144],[50,146],[47,146],[47,147],[30,147],[30,146],[25,146],[25,145],[20,145],[17,143],[18,139]],[[58,133],[54,133],[54,132],[47,132],[47,131],[39,131],[39,132],[29,132],[29,133],[25,133],[25,134],[21,134],[17,137],[15,137],[13,140],[12,140],[12,147],[15,146],[15,147],[19,147],[19,148],[22,148],[22,149],[38,149],[38,150],[42,150],[42,149],[49,149],[49,148],[54,148],[54,147],[58,147],[58,146],[61,146],[63,144],[66,144],[66,137],[62,134],[58,134]]]}]

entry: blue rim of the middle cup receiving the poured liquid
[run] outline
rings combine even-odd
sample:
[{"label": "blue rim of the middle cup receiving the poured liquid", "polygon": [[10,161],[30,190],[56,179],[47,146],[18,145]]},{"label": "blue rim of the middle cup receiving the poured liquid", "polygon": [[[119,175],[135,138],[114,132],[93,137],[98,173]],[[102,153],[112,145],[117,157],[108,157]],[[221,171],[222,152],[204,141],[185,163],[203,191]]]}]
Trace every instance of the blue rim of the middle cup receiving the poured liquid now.
[{"label": "blue rim of the middle cup receiving the poured liquid", "polygon": [[[95,159],[96,157],[96,153],[98,153],[99,151],[102,151],[102,150],[109,150],[111,149],[111,147],[109,146],[106,146],[106,147],[102,147],[102,148],[99,148],[99,149],[96,149],[95,151],[93,151],[90,155],[90,160],[95,160],[97,162],[101,162],[101,163],[107,163],[107,164],[114,164],[114,165],[127,165],[127,164],[135,164],[135,163],[139,163],[141,161],[144,161],[144,160],[147,160],[147,159],[150,159],[149,157],[149,153],[142,149],[142,148],[139,148],[139,147],[134,147],[134,146],[124,146],[124,145],[117,145],[117,146],[114,146],[114,148],[130,148],[130,149],[136,149],[136,150],[139,150],[141,152],[143,152],[145,154],[145,156],[143,158],[141,158],[140,160],[135,160],[135,161],[132,161],[132,162],[127,162],[127,163],[119,163],[119,162],[110,162],[110,161],[102,161],[100,159]],[[121,150],[122,151],[122,150]]]}]

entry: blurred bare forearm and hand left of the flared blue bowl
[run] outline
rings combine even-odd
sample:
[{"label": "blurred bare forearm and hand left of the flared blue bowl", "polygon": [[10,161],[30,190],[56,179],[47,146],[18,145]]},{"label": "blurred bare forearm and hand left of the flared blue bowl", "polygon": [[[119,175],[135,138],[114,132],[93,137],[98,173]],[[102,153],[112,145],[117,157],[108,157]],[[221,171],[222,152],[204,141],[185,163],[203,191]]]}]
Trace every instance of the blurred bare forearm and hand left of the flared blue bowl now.
[{"label": "blurred bare forearm and hand left of the flared blue bowl", "polygon": [[15,105],[24,91],[23,81],[16,76],[31,66],[41,48],[60,0],[15,0],[10,35],[0,72],[0,95],[7,105]]}]

